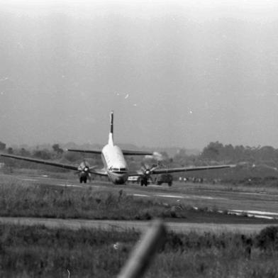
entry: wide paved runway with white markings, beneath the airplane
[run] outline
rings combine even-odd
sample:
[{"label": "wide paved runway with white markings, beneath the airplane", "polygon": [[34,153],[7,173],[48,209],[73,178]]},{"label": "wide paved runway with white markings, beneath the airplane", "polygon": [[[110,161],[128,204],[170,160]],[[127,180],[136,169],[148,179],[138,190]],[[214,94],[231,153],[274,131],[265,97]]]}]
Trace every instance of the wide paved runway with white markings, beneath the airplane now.
[{"label": "wide paved runway with white markings, beneath the airplane", "polygon": [[[38,184],[43,187],[69,187],[72,189],[91,189],[104,191],[123,190],[137,198],[156,198],[165,202],[185,202],[189,206],[213,207],[219,210],[228,210],[234,213],[252,211],[253,215],[278,217],[278,189],[276,193],[254,191],[230,191],[208,189],[207,185],[202,188],[201,184],[184,184],[175,182],[172,187],[167,184],[162,186],[149,185],[140,187],[139,184],[114,185],[111,182],[92,181],[88,184],[79,184],[77,179],[55,179],[48,177],[26,177],[23,175],[12,175],[11,177],[23,181],[25,184]],[[228,187],[228,186],[227,186]],[[258,213],[254,213],[254,212]]]}]

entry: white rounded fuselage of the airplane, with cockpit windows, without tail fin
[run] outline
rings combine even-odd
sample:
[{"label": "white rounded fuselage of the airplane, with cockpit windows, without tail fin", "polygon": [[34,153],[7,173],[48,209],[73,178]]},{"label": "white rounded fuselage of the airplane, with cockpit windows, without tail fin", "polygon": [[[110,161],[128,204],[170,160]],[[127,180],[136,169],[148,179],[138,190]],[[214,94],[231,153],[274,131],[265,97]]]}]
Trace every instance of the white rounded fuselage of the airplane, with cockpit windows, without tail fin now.
[{"label": "white rounded fuselage of the airplane, with cockpit windows, without tail fin", "polygon": [[128,165],[121,149],[111,143],[101,150],[107,174],[113,184],[124,184],[128,179]]}]

